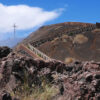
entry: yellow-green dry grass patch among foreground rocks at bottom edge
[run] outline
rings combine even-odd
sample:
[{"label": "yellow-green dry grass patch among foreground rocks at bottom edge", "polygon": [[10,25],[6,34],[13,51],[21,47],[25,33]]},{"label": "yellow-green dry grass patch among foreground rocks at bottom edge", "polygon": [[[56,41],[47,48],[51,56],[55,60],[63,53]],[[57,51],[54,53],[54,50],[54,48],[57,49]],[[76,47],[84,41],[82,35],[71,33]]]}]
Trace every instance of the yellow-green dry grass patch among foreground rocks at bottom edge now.
[{"label": "yellow-green dry grass patch among foreground rocks at bottom edge", "polygon": [[53,96],[59,93],[59,90],[54,86],[46,84],[43,88],[33,89],[31,94],[30,89],[24,87],[24,91],[12,94],[12,96],[17,96],[20,100],[51,100]]}]

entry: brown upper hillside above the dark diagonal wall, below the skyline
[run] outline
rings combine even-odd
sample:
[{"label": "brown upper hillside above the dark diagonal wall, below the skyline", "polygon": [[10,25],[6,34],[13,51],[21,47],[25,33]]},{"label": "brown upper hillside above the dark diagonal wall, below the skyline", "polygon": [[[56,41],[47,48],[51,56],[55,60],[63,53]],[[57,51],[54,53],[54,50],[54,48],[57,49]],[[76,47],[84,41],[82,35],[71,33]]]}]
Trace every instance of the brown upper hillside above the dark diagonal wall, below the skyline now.
[{"label": "brown upper hillside above the dark diagonal wall, below the skyline", "polygon": [[56,33],[66,33],[69,30],[80,29],[81,27],[86,27],[92,25],[90,23],[79,23],[79,22],[65,22],[60,24],[52,24],[48,26],[42,26],[37,31],[31,33],[24,43],[35,42],[40,39],[45,39],[47,37],[53,37]]}]

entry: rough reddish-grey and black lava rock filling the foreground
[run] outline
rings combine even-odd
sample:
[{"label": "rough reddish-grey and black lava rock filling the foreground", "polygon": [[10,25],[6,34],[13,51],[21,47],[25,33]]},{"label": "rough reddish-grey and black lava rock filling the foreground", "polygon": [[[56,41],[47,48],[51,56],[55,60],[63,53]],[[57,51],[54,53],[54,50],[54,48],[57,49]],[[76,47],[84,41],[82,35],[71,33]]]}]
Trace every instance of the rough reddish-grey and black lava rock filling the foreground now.
[{"label": "rough reddish-grey and black lava rock filling the foreground", "polygon": [[44,81],[45,85],[58,88],[58,92],[47,100],[100,100],[100,62],[75,61],[66,65],[56,60],[45,62],[13,52],[0,58],[0,100],[25,100],[16,94],[17,91],[23,94],[20,87],[27,83],[30,88],[28,96],[36,88],[43,89]]}]

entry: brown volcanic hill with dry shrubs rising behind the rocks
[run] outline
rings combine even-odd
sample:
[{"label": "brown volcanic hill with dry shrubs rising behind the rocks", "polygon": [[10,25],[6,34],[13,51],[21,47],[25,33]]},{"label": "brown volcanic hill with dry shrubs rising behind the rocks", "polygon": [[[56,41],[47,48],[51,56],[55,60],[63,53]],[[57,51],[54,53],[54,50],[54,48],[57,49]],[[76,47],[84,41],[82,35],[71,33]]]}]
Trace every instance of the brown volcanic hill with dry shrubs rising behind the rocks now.
[{"label": "brown volcanic hill with dry shrubs rising behind the rocks", "polygon": [[96,24],[65,22],[42,26],[22,41],[47,56],[66,61],[100,61],[100,29]]}]

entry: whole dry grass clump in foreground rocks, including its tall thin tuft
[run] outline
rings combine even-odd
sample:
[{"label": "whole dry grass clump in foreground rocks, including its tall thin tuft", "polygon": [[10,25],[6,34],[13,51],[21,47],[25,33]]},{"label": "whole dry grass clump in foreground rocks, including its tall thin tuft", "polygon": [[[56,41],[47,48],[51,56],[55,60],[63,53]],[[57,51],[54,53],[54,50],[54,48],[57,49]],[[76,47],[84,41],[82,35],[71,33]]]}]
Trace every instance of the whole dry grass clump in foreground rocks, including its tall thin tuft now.
[{"label": "whole dry grass clump in foreground rocks, including its tall thin tuft", "polygon": [[59,93],[59,89],[55,88],[51,83],[47,83],[45,78],[41,80],[41,86],[33,84],[30,88],[27,83],[26,74],[24,84],[15,93],[11,93],[12,97],[17,97],[20,100],[51,100],[53,96]]}]

